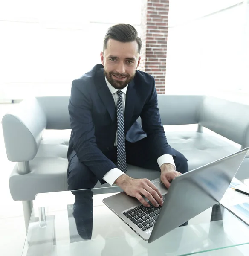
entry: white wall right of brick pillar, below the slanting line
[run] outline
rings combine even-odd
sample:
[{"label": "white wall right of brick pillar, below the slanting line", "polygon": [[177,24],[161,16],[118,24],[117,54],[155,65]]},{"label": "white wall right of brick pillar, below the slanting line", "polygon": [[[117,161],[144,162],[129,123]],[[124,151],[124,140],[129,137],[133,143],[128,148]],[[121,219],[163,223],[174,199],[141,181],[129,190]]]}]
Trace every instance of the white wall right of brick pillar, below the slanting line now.
[{"label": "white wall right of brick pillar, below the slanting line", "polygon": [[236,90],[249,92],[249,4],[169,27],[165,93]]}]

